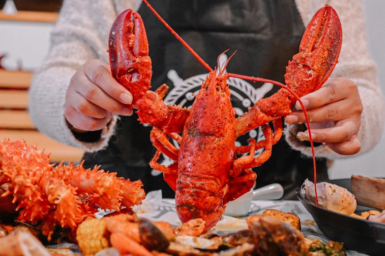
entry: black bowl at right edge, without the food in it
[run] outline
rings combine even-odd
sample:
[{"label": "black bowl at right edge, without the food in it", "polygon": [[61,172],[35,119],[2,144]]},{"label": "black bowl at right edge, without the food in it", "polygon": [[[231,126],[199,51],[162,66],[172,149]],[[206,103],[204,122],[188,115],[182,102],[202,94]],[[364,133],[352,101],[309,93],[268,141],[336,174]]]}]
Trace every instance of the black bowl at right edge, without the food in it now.
[{"label": "black bowl at right edge, without the food in it", "polygon": [[[332,184],[350,190],[350,179],[332,180]],[[310,203],[301,195],[301,189],[296,194],[306,210],[312,215],[322,233],[330,240],[344,243],[348,250],[383,256],[385,255],[385,224],[351,217],[325,209]],[[367,211],[369,208],[357,205],[356,213]]]}]

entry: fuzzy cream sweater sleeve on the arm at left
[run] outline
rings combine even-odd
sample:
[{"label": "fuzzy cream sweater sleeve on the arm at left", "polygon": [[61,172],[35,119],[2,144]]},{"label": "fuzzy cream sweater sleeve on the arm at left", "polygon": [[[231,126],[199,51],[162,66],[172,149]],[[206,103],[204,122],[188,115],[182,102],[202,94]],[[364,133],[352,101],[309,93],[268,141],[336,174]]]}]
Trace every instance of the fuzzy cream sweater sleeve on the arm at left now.
[{"label": "fuzzy cream sweater sleeve on the arm at left", "polygon": [[[116,4],[116,3],[115,3]],[[86,61],[108,63],[109,28],[116,17],[112,1],[66,0],[51,32],[51,44],[29,89],[29,114],[42,133],[62,143],[96,151],[108,144],[117,117],[93,143],[78,140],[64,116],[65,95],[72,76]]]}]

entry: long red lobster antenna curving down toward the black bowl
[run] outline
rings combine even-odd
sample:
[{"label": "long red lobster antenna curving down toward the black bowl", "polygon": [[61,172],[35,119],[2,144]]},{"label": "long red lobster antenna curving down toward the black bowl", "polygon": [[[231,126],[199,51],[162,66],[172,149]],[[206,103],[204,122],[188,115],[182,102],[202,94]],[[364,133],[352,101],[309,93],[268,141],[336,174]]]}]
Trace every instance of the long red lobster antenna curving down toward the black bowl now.
[{"label": "long red lobster antenna curving down toward the black bowl", "polygon": [[281,83],[279,83],[277,81],[274,81],[274,80],[264,79],[264,78],[248,77],[248,76],[243,76],[243,75],[238,75],[238,74],[231,74],[231,73],[227,73],[227,75],[229,77],[233,77],[233,78],[240,78],[240,79],[254,81],[254,82],[271,83],[271,84],[274,84],[274,85],[278,85],[279,87],[282,87],[282,88],[286,89],[287,91],[289,91],[292,95],[294,95],[295,98],[297,98],[298,102],[300,102],[300,104],[302,106],[302,110],[304,111],[304,115],[305,115],[305,119],[306,119],[306,124],[308,126],[308,131],[309,131],[310,147],[311,147],[311,153],[313,155],[315,200],[317,201],[317,205],[319,205],[319,203],[318,203],[318,196],[317,196],[317,171],[316,171],[316,166],[315,166],[315,153],[314,153],[313,139],[311,137],[309,117],[308,117],[308,114],[306,112],[305,106],[302,103],[302,100],[300,99],[300,96],[298,96],[298,94],[295,93],[293,90],[291,90],[289,87],[287,87],[284,84],[281,84]]}]

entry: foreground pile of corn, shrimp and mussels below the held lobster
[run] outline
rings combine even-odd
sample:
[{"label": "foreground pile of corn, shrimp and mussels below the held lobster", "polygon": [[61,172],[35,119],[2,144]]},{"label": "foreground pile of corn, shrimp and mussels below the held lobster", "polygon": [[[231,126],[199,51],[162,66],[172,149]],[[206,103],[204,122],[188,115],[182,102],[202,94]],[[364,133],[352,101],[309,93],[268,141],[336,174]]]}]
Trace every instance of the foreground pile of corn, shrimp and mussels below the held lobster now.
[{"label": "foreground pile of corn, shrimp and mussels below the held lobster", "polygon": [[270,209],[246,222],[248,229],[239,232],[200,235],[204,229],[201,219],[172,228],[167,223],[119,214],[85,220],[76,239],[83,255],[345,255],[342,243],[305,238],[298,228],[299,218],[292,213]]}]

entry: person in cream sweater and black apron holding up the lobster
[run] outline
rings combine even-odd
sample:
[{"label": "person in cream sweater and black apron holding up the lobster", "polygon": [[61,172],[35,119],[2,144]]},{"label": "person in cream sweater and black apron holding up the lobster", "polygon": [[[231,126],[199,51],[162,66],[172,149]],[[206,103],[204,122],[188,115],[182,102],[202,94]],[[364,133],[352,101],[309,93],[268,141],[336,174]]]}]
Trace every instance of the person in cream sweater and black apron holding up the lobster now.
[{"label": "person in cream sweater and black apron holding up the lobster", "polygon": [[[229,72],[284,83],[285,67],[315,12],[324,1],[231,0],[150,1],[182,38],[212,67],[218,55],[237,50]],[[361,1],[328,1],[339,14],[343,45],[332,77],[319,90],[302,97],[312,122],[318,180],[328,180],[333,159],[363,154],[379,140],[383,128],[383,98],[376,66],[369,56]],[[190,106],[208,72],[156,19],[141,1],[65,0],[51,34],[51,47],[37,70],[29,91],[29,113],[36,127],[48,136],[82,148],[84,165],[98,164],[131,180],[141,179],[146,192],[174,192],[163,175],[149,166],[155,154],[151,127],[132,116],[131,93],[117,83],[108,64],[108,34],[123,10],[138,11],[145,24],[152,58],[152,90],[166,83],[166,104]],[[225,56],[226,57],[226,56]],[[223,60],[222,60],[223,61]],[[258,98],[279,88],[229,79],[231,100],[242,115]],[[157,100],[157,95],[147,96]],[[284,138],[259,167],[258,187],[280,183],[284,199],[313,177],[308,131],[300,105],[285,117]],[[136,114],[134,114],[136,115]],[[297,138],[297,134],[302,140]],[[260,140],[259,128],[242,135]],[[259,152],[260,153],[260,152]],[[163,165],[170,160],[163,157]]]}]

